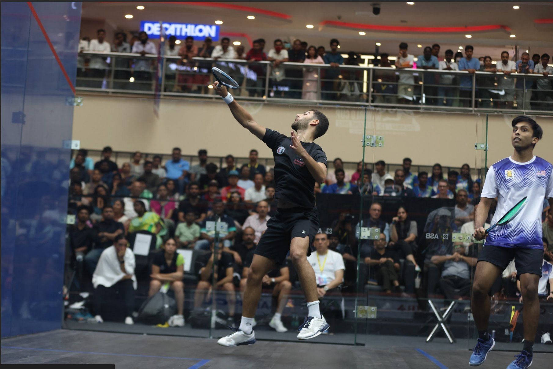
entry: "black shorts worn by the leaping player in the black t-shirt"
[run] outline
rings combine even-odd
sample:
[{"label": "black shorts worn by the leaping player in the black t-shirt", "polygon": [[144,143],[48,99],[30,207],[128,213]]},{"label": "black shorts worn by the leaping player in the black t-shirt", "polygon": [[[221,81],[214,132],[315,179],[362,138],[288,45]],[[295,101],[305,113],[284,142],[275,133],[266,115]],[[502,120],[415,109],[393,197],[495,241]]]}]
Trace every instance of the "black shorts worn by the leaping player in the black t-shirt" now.
[{"label": "black shorts worn by the leaping player in the black t-shirt", "polygon": [[267,230],[261,236],[254,253],[281,265],[290,251],[291,239],[309,236],[307,248],[307,256],[309,256],[318,230],[319,216],[316,207],[312,209],[278,208],[275,216],[267,221]]}]

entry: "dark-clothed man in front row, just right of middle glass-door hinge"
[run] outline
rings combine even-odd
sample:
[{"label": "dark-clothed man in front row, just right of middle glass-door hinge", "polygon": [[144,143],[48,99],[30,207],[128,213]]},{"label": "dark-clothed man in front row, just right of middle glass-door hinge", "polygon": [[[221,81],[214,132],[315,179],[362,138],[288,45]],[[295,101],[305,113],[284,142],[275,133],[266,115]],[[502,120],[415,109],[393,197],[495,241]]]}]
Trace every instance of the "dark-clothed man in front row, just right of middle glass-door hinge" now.
[{"label": "dark-clothed man in front row, just right of middle glass-door hinge", "polygon": [[398,255],[386,248],[386,235],[380,233],[380,238],[373,241],[374,250],[369,257],[364,259],[365,264],[372,267],[378,285],[382,286],[385,293],[399,292],[399,258]]}]

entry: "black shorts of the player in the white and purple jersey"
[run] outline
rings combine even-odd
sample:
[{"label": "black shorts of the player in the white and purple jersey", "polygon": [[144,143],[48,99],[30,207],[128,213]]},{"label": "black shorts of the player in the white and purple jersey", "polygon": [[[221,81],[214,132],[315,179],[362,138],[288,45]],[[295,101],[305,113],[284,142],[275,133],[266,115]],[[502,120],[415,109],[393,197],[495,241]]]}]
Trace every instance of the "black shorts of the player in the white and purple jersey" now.
[{"label": "black shorts of the player in the white and purple jersey", "polygon": [[492,263],[503,271],[511,260],[515,259],[517,279],[520,274],[538,274],[541,276],[541,265],[544,263],[544,249],[527,249],[518,247],[501,247],[484,245],[478,255],[478,261]]}]

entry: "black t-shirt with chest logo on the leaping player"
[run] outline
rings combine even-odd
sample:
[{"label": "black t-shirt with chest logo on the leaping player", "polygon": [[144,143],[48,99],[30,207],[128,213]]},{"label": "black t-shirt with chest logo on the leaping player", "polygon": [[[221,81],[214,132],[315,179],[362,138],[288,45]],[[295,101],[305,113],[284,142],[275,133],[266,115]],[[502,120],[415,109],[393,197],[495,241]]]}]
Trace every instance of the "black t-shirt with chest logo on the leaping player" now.
[{"label": "black t-shirt with chest logo on the leaping player", "polygon": [[[275,160],[276,199],[283,199],[304,208],[315,207],[315,178],[302,159],[290,148],[291,137],[267,129],[263,142],[273,150]],[[326,154],[315,142],[301,142],[307,153],[318,163],[326,162]]]}]

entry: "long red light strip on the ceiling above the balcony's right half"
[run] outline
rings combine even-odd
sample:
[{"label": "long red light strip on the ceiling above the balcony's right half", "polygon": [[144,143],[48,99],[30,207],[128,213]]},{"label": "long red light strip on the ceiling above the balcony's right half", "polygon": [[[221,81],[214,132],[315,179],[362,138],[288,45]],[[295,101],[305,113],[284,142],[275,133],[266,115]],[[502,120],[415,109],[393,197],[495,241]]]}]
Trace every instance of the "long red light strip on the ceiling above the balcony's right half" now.
[{"label": "long red light strip on the ceiling above the balcony's right half", "polygon": [[336,27],[379,30],[388,32],[479,32],[496,29],[504,29],[510,31],[509,27],[500,24],[472,25],[469,27],[405,27],[395,25],[362,24],[337,22],[336,20],[324,20],[320,23],[320,25],[335,25]]}]

